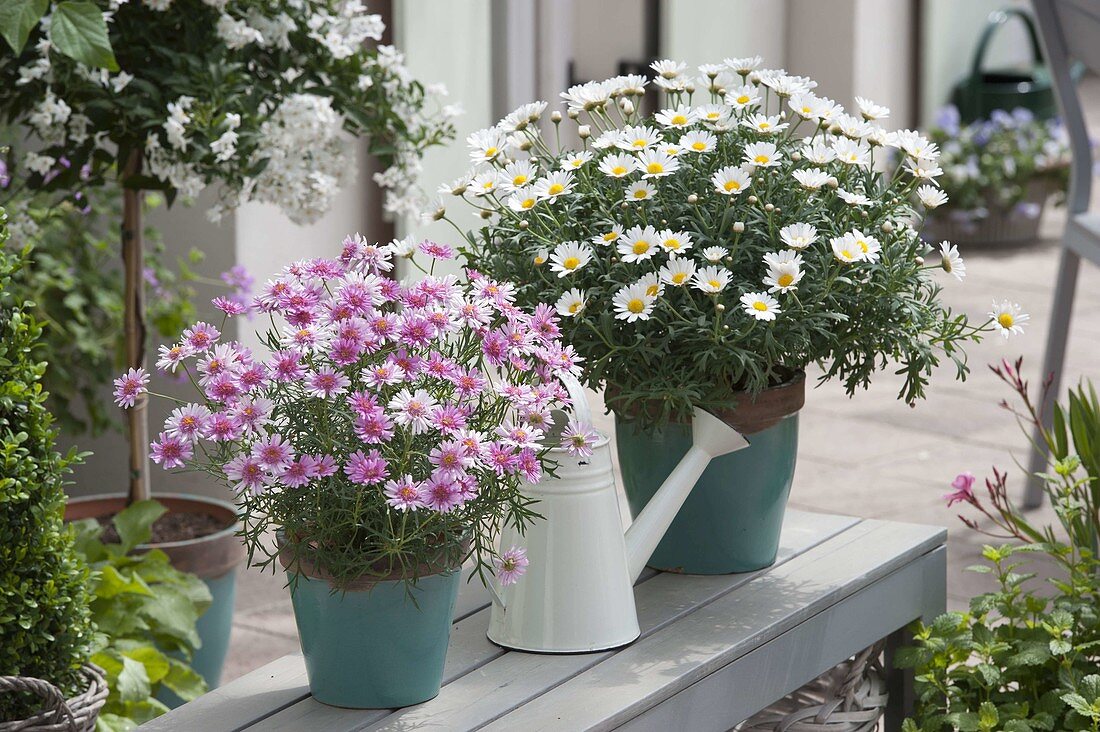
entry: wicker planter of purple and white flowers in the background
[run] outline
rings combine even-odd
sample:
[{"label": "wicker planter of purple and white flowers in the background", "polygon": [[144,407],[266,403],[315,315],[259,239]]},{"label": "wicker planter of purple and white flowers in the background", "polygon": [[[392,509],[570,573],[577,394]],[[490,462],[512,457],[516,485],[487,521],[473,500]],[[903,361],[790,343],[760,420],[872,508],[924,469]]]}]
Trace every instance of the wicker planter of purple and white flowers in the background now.
[{"label": "wicker planter of purple and white flowers in the background", "polygon": [[974,220],[961,211],[953,211],[950,204],[931,215],[921,237],[931,243],[945,239],[953,244],[1024,244],[1038,239],[1038,225],[1043,219],[1046,201],[1057,187],[1049,181],[1038,179],[1027,186],[1021,204],[1038,207],[1036,216],[1027,216],[1021,207],[993,208],[989,216]]}]

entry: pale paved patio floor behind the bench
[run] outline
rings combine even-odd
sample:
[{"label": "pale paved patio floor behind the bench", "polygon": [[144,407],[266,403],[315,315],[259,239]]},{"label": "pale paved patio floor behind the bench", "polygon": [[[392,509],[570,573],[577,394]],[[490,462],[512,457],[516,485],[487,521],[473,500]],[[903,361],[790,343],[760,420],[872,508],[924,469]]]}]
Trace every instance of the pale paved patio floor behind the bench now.
[{"label": "pale paved patio floor behind the bench", "polygon": [[[979,478],[997,465],[1012,471],[1016,493],[1022,479],[1013,457],[1026,461],[1026,438],[1012,416],[998,406],[1009,390],[986,364],[1024,357],[1024,370],[1037,384],[1052,288],[1057,265],[1062,214],[1048,214],[1042,242],[1018,249],[965,251],[968,277],[945,277],[946,299],[974,318],[990,302],[1009,297],[1031,314],[1022,337],[994,337],[969,351],[971,374],[953,381],[952,367],[933,380],[930,398],[910,408],[895,400],[893,374],[882,374],[868,391],[848,398],[837,384],[807,394],[801,416],[799,467],[790,505],[810,511],[946,525],[950,529],[948,597],[953,608],[981,591],[985,576],[964,571],[988,539],[961,526],[942,494],[963,470]],[[1082,267],[1067,360],[1066,383],[1094,375],[1100,359],[1100,272]],[[592,395],[595,397],[595,395]],[[609,419],[597,425],[610,430]],[[1044,518],[1049,518],[1045,511]],[[233,679],[298,649],[294,615],[278,576],[242,572],[226,679]]]}]

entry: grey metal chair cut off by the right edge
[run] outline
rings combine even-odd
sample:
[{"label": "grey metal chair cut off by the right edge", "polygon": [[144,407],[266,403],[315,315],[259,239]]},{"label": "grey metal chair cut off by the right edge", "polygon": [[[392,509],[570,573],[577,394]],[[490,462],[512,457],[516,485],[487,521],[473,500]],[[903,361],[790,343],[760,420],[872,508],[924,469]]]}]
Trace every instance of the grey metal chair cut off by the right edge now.
[{"label": "grey metal chair cut off by the right edge", "polygon": [[[1074,155],[1066,201],[1066,231],[1062,239],[1062,261],[1054,291],[1046,354],[1043,357],[1043,374],[1049,375],[1052,381],[1050,398],[1044,403],[1042,418],[1043,424],[1049,427],[1054,401],[1062,385],[1069,318],[1077,289],[1077,271],[1081,259],[1100,264],[1100,211],[1089,211],[1092,149],[1081,111],[1081,100],[1070,74],[1072,62],[1100,72],[1100,0],[1033,0],[1033,4]],[[1043,444],[1037,429],[1034,441],[1040,446]],[[1045,450],[1038,447],[1033,449],[1028,466],[1032,476],[1046,470],[1046,459]],[[1033,477],[1024,492],[1024,506],[1034,509],[1042,502],[1042,482]]]}]

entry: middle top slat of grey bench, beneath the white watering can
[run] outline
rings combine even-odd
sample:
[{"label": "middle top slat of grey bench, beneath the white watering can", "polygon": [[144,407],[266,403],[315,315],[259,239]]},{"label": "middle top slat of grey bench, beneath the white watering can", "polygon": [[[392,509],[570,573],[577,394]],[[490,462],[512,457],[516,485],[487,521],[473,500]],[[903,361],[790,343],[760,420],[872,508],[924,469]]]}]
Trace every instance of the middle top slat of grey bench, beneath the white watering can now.
[{"label": "middle top slat of grey bench, beneath the white watering can", "polygon": [[[777,565],[812,551],[832,536],[856,525],[846,516],[798,514],[784,524]],[[746,575],[678,576],[658,573],[637,586],[635,597],[641,637],[675,623],[774,567]],[[487,620],[485,621],[487,623]],[[484,625],[482,626],[484,632]],[[436,699],[399,710],[367,730],[473,730],[612,657],[615,653],[547,655],[507,653],[449,684]]]}]

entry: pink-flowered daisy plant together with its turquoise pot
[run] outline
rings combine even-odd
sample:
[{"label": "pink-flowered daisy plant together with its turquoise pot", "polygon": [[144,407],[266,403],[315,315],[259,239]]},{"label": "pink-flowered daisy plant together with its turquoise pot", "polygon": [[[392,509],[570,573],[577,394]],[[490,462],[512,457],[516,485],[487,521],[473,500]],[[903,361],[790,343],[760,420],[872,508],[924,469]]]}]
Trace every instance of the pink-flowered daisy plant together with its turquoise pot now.
[{"label": "pink-flowered daisy plant together with its turquoise pot", "polygon": [[542,472],[554,376],[575,370],[550,308],[527,315],[474,272],[433,276],[453,254],[420,249],[429,274],[399,285],[393,245],[349,238],[264,287],[268,353],[196,326],[163,364],[199,396],[153,459],[234,489],[250,560],[286,568],[310,690],[341,707],[436,696],[463,560],[483,579],[522,572],[498,532],[535,515],[520,483]]}]

